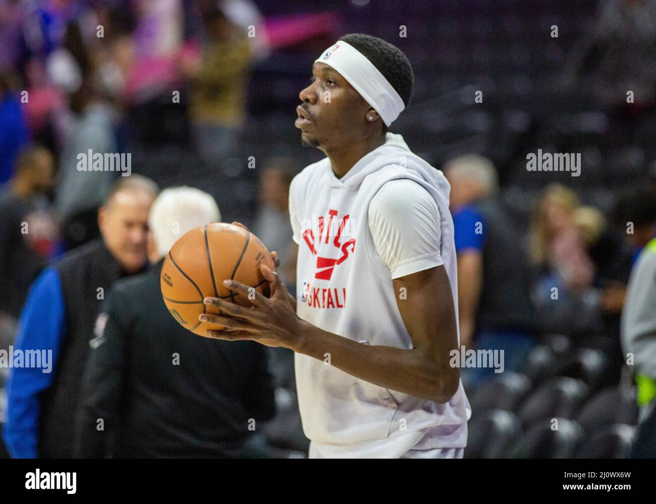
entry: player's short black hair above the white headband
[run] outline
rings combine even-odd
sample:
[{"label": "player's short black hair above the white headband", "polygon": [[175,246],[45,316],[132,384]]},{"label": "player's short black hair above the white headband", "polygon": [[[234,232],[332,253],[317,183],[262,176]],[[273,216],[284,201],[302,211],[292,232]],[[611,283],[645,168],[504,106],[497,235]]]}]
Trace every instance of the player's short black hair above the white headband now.
[{"label": "player's short black hair above the white headband", "polygon": [[340,40],[361,52],[398,92],[403,104],[408,106],[415,85],[415,73],[410,61],[400,48],[383,39],[364,33],[349,33]]}]

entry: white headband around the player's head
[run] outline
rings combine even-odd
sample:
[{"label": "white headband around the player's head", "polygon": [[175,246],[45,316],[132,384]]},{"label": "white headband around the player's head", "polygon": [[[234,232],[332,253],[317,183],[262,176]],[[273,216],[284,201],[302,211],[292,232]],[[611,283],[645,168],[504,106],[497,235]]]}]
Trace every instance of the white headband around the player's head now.
[{"label": "white headband around the player's head", "polygon": [[386,126],[392,124],[405,108],[398,92],[358,49],[339,41],[323,52],[315,63],[325,63],[337,70],[379,113]]}]

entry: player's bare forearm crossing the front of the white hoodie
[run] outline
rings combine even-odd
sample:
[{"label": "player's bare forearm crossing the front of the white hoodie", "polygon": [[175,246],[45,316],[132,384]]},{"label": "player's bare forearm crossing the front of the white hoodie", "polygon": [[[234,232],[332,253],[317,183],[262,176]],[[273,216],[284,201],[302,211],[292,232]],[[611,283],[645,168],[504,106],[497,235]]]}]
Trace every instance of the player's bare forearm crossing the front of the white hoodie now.
[{"label": "player's bare forearm crossing the front of the white hoodie", "polygon": [[356,378],[440,403],[455,393],[453,380],[447,379],[453,370],[441,368],[419,349],[364,345],[308,322],[303,323],[303,329],[297,353],[323,360]]}]

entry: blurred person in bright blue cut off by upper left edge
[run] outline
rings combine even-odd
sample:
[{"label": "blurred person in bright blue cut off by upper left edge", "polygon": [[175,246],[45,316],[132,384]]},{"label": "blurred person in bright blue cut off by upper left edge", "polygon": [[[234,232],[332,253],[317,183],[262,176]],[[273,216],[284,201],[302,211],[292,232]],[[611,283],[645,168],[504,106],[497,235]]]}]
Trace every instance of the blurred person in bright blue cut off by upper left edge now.
[{"label": "blurred person in bright blue cut off by upper left edge", "polygon": [[0,185],[14,174],[16,156],[29,140],[19,98],[12,92],[9,75],[0,73]]}]

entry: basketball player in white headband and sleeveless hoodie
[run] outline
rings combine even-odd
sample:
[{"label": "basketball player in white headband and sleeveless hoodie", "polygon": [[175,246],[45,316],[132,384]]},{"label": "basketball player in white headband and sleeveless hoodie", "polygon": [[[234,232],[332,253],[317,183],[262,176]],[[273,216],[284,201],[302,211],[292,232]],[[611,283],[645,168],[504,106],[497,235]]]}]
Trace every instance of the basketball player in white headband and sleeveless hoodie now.
[{"label": "basketball player in white headband and sleeveless hoodie", "polygon": [[471,410],[449,364],[459,345],[449,184],[388,132],[410,100],[411,65],[351,34],[312,73],[296,126],[327,157],[290,187],[298,300],[262,266],[270,298],[256,293],[250,309],[207,298],[224,315],[201,320],[225,327],[208,336],[296,352],[310,457],[462,457]]}]

